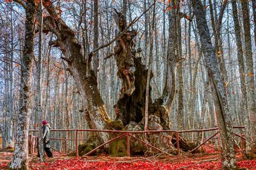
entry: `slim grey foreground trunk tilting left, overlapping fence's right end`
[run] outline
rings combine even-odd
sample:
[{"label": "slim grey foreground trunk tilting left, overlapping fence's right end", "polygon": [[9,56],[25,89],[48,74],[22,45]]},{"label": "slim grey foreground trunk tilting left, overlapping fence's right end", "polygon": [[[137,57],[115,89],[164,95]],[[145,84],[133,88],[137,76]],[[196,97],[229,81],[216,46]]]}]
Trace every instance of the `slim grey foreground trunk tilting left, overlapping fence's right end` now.
[{"label": "slim grey foreground trunk tilting left, overlapping fence's right end", "polygon": [[220,128],[222,150],[222,168],[236,169],[236,154],[234,151],[234,136],[231,124],[231,117],[229,115],[228,100],[226,91],[224,89],[223,81],[221,80],[220,69],[218,68],[218,60],[215,55],[215,50],[211,45],[211,36],[203,10],[203,5],[200,1],[192,0],[192,6],[195,12],[197,21],[197,28],[200,35],[203,54],[206,59],[209,79],[213,98],[215,101],[216,116],[218,119],[218,126]]}]

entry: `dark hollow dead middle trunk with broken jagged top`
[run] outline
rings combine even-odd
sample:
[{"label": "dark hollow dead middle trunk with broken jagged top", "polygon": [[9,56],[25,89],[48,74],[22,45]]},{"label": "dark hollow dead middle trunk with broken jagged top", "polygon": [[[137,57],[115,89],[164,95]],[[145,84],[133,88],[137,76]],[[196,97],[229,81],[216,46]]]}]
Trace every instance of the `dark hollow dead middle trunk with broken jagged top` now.
[{"label": "dark hollow dead middle trunk with broken jagged top", "polygon": [[[116,11],[115,21],[119,33],[127,28],[123,14]],[[133,38],[137,35],[135,30],[126,31],[114,47],[114,58],[117,62],[117,76],[121,79],[121,91],[119,100],[115,105],[116,119],[127,125],[130,121],[140,122],[145,115],[145,93],[147,87],[148,70],[137,57]],[[150,88],[149,88],[150,90]],[[151,104],[149,95],[148,104]]]}]

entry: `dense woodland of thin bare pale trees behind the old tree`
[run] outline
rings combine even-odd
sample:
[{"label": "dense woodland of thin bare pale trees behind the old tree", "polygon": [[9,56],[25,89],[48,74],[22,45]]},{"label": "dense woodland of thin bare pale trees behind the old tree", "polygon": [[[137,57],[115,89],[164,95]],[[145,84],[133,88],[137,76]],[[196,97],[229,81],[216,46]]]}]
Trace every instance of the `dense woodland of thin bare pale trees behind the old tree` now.
[{"label": "dense woodland of thin bare pale trees behind the old tree", "polygon": [[[255,72],[255,1],[249,4],[249,23],[252,41],[252,70]],[[95,26],[95,2],[94,1],[55,1],[56,11],[59,12],[67,25],[74,30],[75,37],[82,45],[82,54],[85,59],[88,53],[95,47],[95,36],[98,36],[98,45],[105,44],[116,36],[116,23],[113,19],[113,8],[121,9],[123,2],[115,0],[98,1],[98,26]],[[219,41],[221,48],[217,50],[218,59],[222,62],[221,72],[226,77],[224,87],[228,91],[229,111],[233,125],[245,124],[245,103],[242,96],[242,88],[249,83],[242,82],[241,77],[250,77],[254,83],[255,74],[245,72],[241,75],[239,70],[239,57],[236,45],[235,27],[231,2],[226,9],[221,11],[223,1],[202,1],[210,28],[212,42],[216,43],[216,25],[220,14],[223,13],[222,27]],[[127,22],[130,23],[150,6],[151,1],[130,0],[127,1]],[[155,100],[163,93],[166,79],[166,55],[168,53],[168,12],[176,9],[175,6],[167,6],[168,1],[157,1],[155,12],[155,29],[153,32],[153,60],[151,69],[151,98]],[[254,7],[253,7],[254,6]],[[193,9],[189,1],[181,1],[180,11],[186,16],[181,19],[181,32],[177,34],[181,43],[181,57],[177,64],[177,95],[174,108],[170,113],[171,129],[200,129],[200,120],[203,120],[204,128],[215,127],[215,106],[211,93],[207,90],[208,72],[200,51],[200,38],[194,19]],[[245,41],[244,18],[241,2],[237,1],[237,15],[241,28],[242,50],[245,51],[248,41]],[[152,28],[152,11],[146,14],[132,28],[139,33],[135,37],[137,48],[142,48],[143,63],[148,66],[149,33]],[[36,18],[37,20],[39,17]],[[193,19],[190,21],[190,19]],[[20,59],[24,45],[25,10],[14,2],[0,1],[0,125],[3,138],[2,147],[12,143],[19,113],[19,85],[20,85]],[[38,23],[36,23],[38,24]],[[98,33],[95,34],[95,28]],[[66,70],[67,63],[61,59],[62,53],[58,48],[49,45],[49,40],[54,40],[51,33],[43,35],[41,70],[41,108],[52,129],[88,129],[87,120],[83,114],[84,106],[70,72]],[[100,49],[98,61],[93,61],[93,70],[97,75],[98,88],[109,117],[116,118],[114,104],[118,100],[121,90],[121,81],[117,77],[117,67],[114,57],[104,59],[113,51],[114,43],[107,48]],[[31,108],[30,129],[34,128],[41,115],[36,113],[36,90],[38,75],[38,34],[35,34],[35,57],[33,58],[32,84],[31,84]],[[244,65],[247,57],[244,57]],[[242,84],[244,83],[244,84]],[[249,102],[255,96],[249,96]],[[86,134],[85,138],[87,137]],[[195,138],[188,136],[187,138]]]}]

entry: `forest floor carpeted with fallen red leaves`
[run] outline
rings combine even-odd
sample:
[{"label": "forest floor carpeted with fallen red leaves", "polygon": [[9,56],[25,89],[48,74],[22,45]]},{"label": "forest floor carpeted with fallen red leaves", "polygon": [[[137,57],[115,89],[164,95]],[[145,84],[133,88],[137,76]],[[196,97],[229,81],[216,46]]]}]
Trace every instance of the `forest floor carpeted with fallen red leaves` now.
[{"label": "forest floor carpeted with fallen red leaves", "polygon": [[[206,153],[182,156],[156,155],[151,157],[111,157],[106,155],[74,158],[54,152],[54,158],[46,158],[40,163],[35,155],[30,155],[31,169],[221,169],[218,151],[204,147]],[[12,152],[0,150],[0,169],[7,169]],[[238,150],[239,168],[256,169],[256,160],[245,160]]]}]

